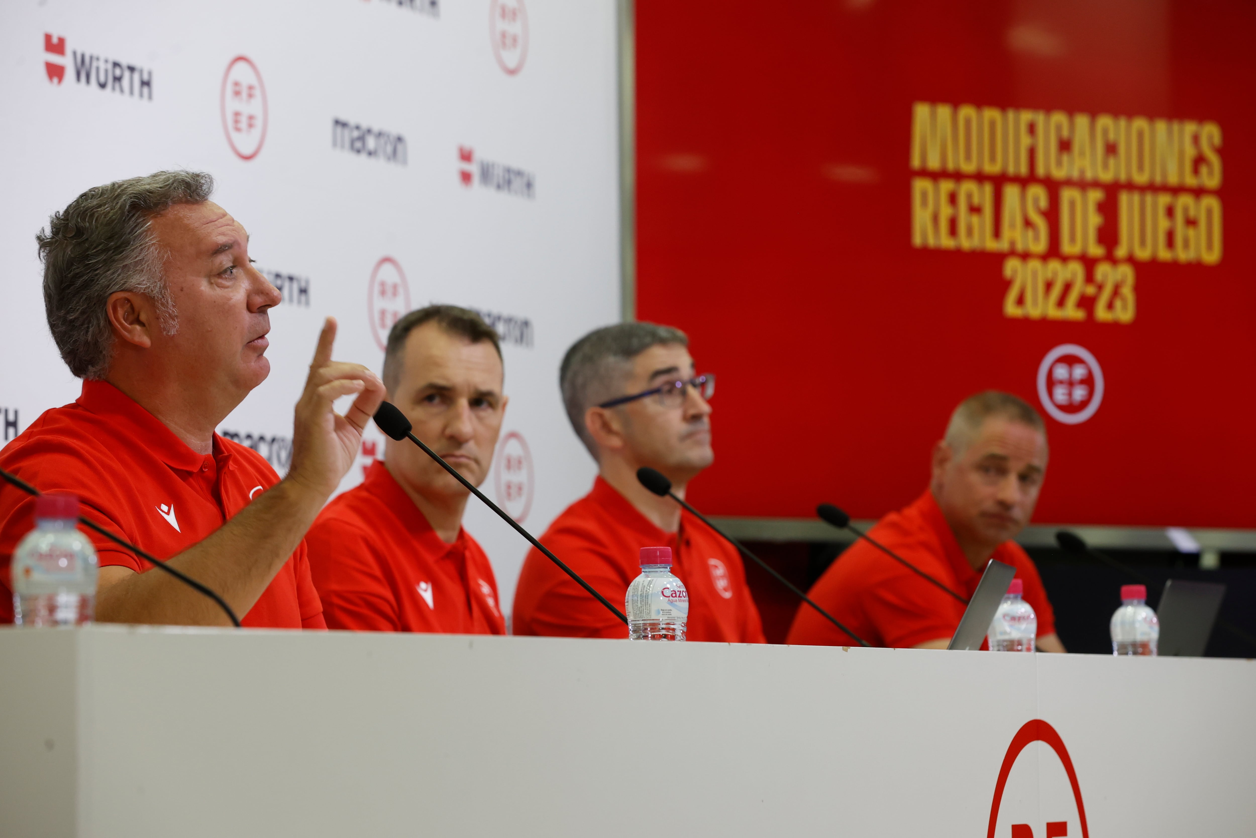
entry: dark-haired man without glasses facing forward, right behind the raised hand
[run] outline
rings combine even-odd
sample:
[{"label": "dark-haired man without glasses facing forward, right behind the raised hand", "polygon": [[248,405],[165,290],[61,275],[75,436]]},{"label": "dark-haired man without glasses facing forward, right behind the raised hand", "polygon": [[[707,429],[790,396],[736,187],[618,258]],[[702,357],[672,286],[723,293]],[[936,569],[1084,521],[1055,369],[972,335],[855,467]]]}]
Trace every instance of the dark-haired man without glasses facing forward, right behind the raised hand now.
[{"label": "dark-haired man without glasses facing forward, right behind the raised hand", "polygon": [[[462,477],[480,485],[506,410],[501,347],[474,311],[427,306],[388,334],[388,398]],[[305,541],[329,628],[502,635],[497,580],[462,528],[471,496],[408,439],[319,514]]]}]

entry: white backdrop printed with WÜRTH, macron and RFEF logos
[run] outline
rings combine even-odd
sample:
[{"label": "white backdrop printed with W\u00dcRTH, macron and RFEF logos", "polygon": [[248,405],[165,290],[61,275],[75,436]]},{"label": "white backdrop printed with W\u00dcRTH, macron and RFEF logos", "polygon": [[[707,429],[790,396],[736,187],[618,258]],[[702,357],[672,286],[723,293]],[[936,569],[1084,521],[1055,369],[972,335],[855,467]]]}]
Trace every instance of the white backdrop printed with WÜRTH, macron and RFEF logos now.
[{"label": "white backdrop printed with W\u00dcRTH, macron and RFEF logos", "polygon": [[[471,306],[507,337],[510,469],[499,445],[484,489],[541,532],[594,474],[559,361],[619,320],[614,26],[613,0],[5,3],[3,442],[79,391],[35,232],[92,186],[201,169],[285,296],[270,378],[220,432],[284,473],[324,316],[378,370],[407,302]],[[526,544],[474,499],[466,524],[509,605]]]}]

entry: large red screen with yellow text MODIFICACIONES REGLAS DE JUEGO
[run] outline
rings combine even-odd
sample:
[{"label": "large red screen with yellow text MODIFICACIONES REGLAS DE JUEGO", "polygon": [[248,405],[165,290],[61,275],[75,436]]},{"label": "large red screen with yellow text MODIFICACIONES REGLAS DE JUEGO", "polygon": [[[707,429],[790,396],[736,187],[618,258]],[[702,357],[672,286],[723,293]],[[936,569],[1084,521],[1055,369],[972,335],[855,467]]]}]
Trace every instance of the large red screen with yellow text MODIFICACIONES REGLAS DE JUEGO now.
[{"label": "large red screen with yellow text MODIFICACIONES REGLAS DE JUEGO", "polygon": [[[698,366],[720,376],[717,462],[695,482],[695,502],[727,516],[804,517],[819,501],[880,516],[923,489],[929,448],[961,398],[996,388],[1045,411],[1039,366],[1075,344],[1095,359],[1104,393],[1081,423],[1048,419],[1036,519],[1256,527],[1253,43],[1256,6],[1237,1],[638,0],[638,317],[685,329]],[[1080,173],[1060,179],[1006,164],[966,174],[958,148],[951,171],[946,149],[938,171],[913,169],[918,102],[950,104],[953,118],[965,104],[1041,112],[1027,130],[1061,152],[1073,141],[1046,133],[1053,112],[1064,130],[1078,113],[1084,125],[1124,118],[1125,132],[1135,117],[1177,132],[1216,123],[1220,188],[1199,182],[1202,159],[1194,186],[1184,172],[1176,186],[1134,183],[1132,157],[1124,183],[1100,183],[1080,151]],[[1045,252],[1017,253],[1012,240],[1006,251],[913,246],[918,217],[922,240],[943,235],[938,225],[960,236],[955,221],[913,208],[917,177],[951,207],[943,179],[988,183],[999,241],[1005,184],[1024,194],[1041,184]],[[1078,256],[1066,241],[1074,216],[1060,218],[1065,187],[1103,189],[1103,223]],[[1118,258],[1122,192],[1153,207],[1158,192],[1187,193],[1196,212],[1212,199],[1223,208],[1220,261],[1215,237],[1212,265],[1198,242],[1184,261]],[[1009,300],[1009,271],[1034,260],[1035,278],[1021,280],[1036,291]],[[1051,260],[1078,265],[1071,305],[1070,280],[1037,278]],[[1100,276],[1109,263],[1135,276],[1137,307],[1118,302],[1124,280]],[[1032,296],[1055,285],[1054,302]],[[1060,319],[1078,311],[1084,320]],[[1068,416],[1095,389],[1091,370],[1069,378],[1080,361],[1061,360],[1065,386],[1051,389],[1060,381],[1049,369],[1048,401]]]}]

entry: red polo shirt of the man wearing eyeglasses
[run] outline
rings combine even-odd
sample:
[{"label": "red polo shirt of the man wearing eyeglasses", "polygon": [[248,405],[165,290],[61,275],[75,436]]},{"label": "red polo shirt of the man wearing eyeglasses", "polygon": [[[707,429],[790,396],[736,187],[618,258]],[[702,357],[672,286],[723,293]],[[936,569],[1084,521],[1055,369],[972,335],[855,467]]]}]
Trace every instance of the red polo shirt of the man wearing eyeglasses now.
[{"label": "red polo shirt of the man wearing eyeglasses", "polygon": [[[663,532],[599,477],[540,541],[620,610],[641,576],[641,548],[671,547],[672,572],[690,595],[686,639],[765,642],[741,556],[688,512],[678,532]],[[512,621],[516,635],[628,636],[628,626],[535,548],[519,575]]]}]

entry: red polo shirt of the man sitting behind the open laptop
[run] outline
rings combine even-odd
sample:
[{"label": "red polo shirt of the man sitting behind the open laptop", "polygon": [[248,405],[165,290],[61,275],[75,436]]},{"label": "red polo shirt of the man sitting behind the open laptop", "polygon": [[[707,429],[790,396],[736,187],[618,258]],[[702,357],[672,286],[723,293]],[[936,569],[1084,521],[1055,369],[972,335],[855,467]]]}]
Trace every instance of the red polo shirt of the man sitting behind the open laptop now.
[{"label": "red polo shirt of the man sitting behind the open laptop", "polygon": [[[971,597],[977,590],[981,572],[968,565],[932,492],[885,516],[868,534],[956,593]],[[1054,632],[1055,613],[1029,554],[1007,541],[991,558],[1016,568],[1025,583],[1025,601],[1037,615],[1037,635]],[[872,646],[902,649],[950,639],[963,617],[962,602],[862,538],[838,556],[808,596]],[[805,603],[785,642],[853,645],[850,637]]]}]

